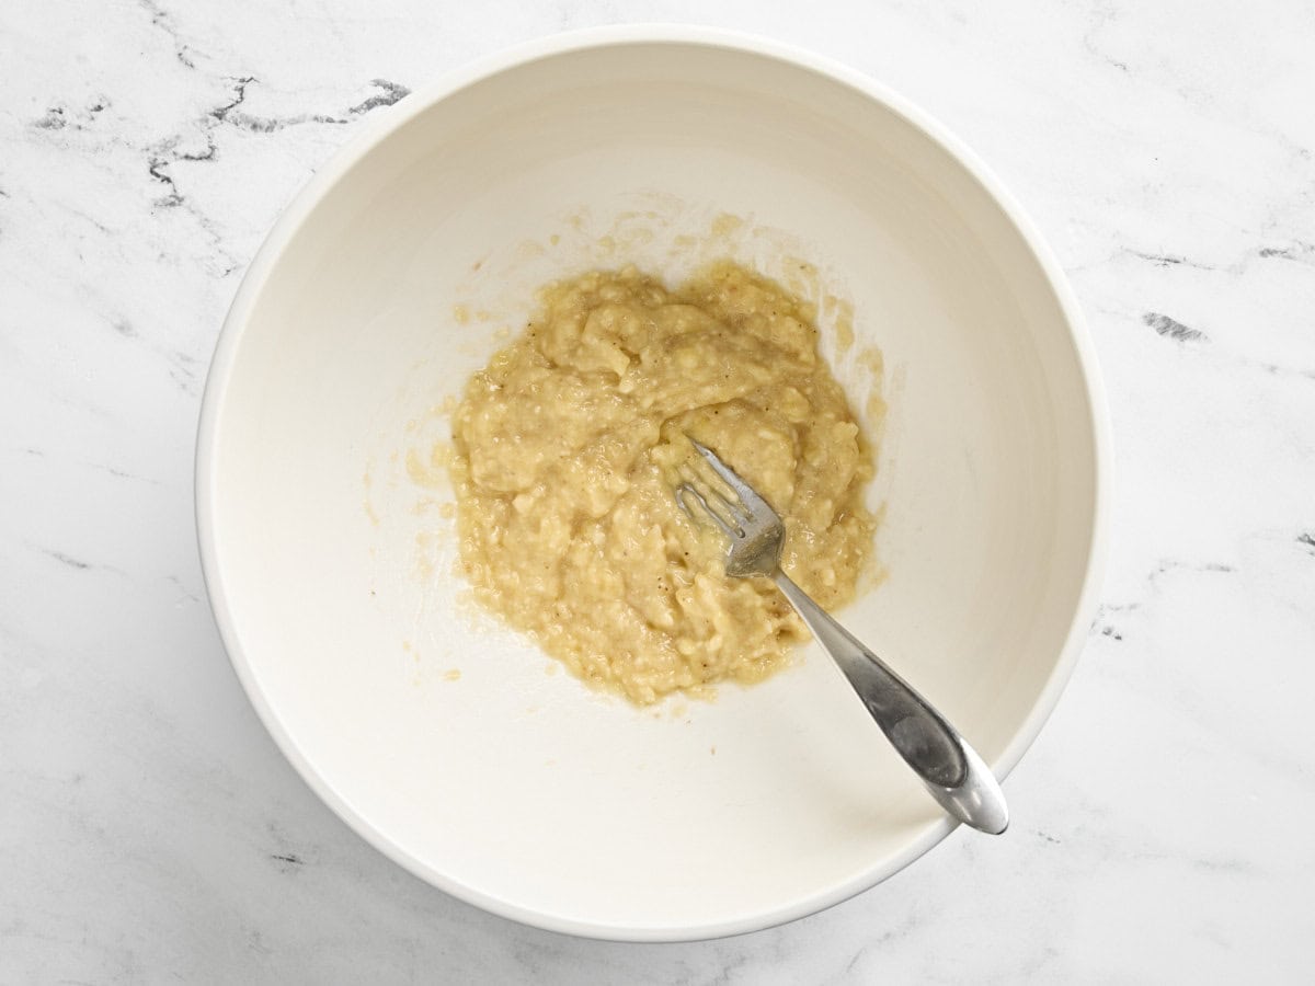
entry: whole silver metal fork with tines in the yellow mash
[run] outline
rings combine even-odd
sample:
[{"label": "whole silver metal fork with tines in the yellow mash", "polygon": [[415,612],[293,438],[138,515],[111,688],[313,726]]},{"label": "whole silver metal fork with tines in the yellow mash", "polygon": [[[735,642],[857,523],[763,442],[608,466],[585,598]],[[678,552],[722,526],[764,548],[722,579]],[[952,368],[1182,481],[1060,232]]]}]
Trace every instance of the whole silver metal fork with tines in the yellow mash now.
[{"label": "whole silver metal fork with tines in the yellow mash", "polygon": [[781,546],[785,543],[781,518],[713,450],[693,439],[690,443],[735,494],[734,500],[727,498],[709,486],[709,494],[721,507],[714,509],[690,482],[675,490],[676,504],[686,517],[694,517],[686,502],[693,498],[730,539],[726,575],[773,578],[931,797],[973,828],[993,835],[1003,832],[1009,827],[1009,807],[990,768],[927,699],[781,571]]}]

